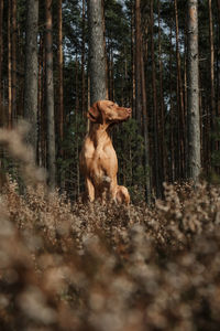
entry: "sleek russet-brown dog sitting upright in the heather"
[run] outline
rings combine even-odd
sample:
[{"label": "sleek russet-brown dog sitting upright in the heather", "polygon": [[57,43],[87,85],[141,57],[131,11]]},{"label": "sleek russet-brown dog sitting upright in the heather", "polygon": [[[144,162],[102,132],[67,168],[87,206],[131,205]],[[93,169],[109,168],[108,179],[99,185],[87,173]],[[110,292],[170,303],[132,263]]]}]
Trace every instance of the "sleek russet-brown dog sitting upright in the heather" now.
[{"label": "sleek russet-brown dog sitting upright in the heather", "polygon": [[90,129],[86,136],[79,156],[80,170],[86,179],[87,196],[95,199],[113,199],[119,203],[129,203],[127,188],[117,182],[118,159],[113,149],[109,128],[131,117],[131,109],[119,107],[113,102],[95,103],[87,114]]}]

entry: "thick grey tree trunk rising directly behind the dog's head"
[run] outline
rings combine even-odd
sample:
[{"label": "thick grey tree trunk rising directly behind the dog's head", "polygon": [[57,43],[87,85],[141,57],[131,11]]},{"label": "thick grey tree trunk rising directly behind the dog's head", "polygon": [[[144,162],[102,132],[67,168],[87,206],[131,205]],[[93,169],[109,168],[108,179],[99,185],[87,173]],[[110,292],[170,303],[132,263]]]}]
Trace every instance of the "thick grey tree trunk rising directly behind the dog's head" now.
[{"label": "thick grey tree trunk rising directly behind the dog's head", "polygon": [[90,103],[106,99],[106,52],[102,0],[88,1]]}]

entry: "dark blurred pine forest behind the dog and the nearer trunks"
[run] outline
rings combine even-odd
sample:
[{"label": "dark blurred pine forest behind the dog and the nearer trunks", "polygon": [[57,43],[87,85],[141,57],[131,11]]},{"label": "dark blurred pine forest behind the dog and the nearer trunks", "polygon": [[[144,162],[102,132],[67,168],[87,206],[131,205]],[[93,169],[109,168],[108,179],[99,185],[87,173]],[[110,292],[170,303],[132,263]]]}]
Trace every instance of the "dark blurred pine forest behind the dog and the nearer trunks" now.
[{"label": "dark blurred pine forest behind the dog and the nearer trunks", "polygon": [[[40,1],[31,21],[37,44],[28,53],[34,2],[0,1],[1,126],[31,121],[28,140],[37,164],[48,170],[53,186],[76,200],[84,191],[78,154],[91,98],[87,1]],[[105,0],[102,10],[107,96],[133,109],[132,119],[112,132],[119,183],[129,188],[133,201],[160,197],[163,182],[190,178],[187,1]],[[219,182],[220,166],[219,25],[220,1],[199,1],[200,175],[212,182]],[[37,73],[29,66],[33,60]],[[37,86],[30,106],[31,73]],[[18,177],[4,150],[1,167]]]}]

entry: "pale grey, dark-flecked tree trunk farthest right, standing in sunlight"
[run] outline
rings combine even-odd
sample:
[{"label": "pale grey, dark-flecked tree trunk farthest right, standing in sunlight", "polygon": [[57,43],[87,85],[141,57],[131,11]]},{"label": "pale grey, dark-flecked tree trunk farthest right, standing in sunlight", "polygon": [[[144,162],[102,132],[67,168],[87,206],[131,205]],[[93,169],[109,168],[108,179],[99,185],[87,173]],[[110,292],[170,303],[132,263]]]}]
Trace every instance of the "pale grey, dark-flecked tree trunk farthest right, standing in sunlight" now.
[{"label": "pale grey, dark-flecked tree trunk farthest right, standing in sunlight", "polygon": [[201,170],[198,60],[198,0],[188,0],[188,171],[195,182]]}]

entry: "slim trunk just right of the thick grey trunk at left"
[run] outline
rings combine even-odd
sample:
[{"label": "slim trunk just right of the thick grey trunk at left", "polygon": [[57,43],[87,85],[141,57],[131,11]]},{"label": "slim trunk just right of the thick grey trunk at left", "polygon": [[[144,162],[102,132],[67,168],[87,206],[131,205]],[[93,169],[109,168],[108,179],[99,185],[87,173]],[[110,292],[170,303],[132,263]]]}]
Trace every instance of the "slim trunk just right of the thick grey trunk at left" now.
[{"label": "slim trunk just right of the thick grey trunk at left", "polygon": [[54,78],[53,78],[53,40],[52,40],[52,0],[46,6],[46,110],[47,110],[47,170],[48,185],[55,188],[55,126],[54,126]]}]

